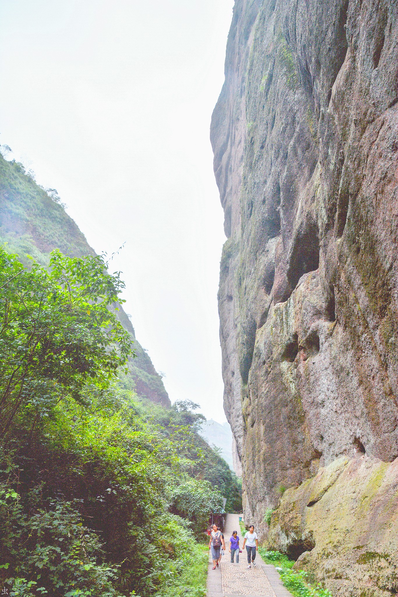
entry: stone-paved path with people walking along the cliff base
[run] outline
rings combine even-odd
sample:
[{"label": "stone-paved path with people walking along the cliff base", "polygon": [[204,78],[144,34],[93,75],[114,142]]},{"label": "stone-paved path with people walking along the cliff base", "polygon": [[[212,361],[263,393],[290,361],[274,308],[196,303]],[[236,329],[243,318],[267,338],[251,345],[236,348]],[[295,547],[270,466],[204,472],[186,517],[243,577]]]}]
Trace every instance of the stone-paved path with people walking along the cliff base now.
[{"label": "stone-paved path with people walking along the cliff base", "polygon": [[207,597],[292,597],[291,593],[283,586],[279,574],[271,565],[264,564],[260,555],[256,556],[256,566],[248,570],[246,549],[240,553],[239,564],[231,564],[229,538],[232,531],[237,531],[240,537],[240,546],[243,537],[239,528],[239,516],[227,514],[224,537],[227,552],[221,558],[220,568],[212,570],[211,554],[209,554],[209,567],[207,577]]}]

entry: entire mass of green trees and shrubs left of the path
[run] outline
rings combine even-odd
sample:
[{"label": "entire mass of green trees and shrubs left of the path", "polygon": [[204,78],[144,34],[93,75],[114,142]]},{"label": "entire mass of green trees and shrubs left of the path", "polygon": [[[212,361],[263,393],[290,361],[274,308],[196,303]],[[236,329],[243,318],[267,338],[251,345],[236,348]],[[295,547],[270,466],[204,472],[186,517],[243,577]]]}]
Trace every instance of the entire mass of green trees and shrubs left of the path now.
[{"label": "entire mass of green trees and shrubs left of the path", "polygon": [[119,276],[100,257],[55,252],[48,270],[0,259],[0,583],[24,597],[168,597],[202,566],[181,594],[203,595],[194,533],[239,492],[195,405],[137,401],[109,309]]}]

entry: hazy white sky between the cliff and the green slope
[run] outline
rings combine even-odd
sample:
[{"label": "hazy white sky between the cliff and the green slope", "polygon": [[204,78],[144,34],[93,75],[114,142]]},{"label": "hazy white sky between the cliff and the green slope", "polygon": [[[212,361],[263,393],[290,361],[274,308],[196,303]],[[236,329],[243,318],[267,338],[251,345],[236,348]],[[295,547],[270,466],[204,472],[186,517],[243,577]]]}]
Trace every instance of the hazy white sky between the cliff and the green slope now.
[{"label": "hazy white sky between the cliff and the green slope", "polygon": [[225,420],[209,125],[233,0],[1,0],[0,143],[112,254],[172,401]]}]

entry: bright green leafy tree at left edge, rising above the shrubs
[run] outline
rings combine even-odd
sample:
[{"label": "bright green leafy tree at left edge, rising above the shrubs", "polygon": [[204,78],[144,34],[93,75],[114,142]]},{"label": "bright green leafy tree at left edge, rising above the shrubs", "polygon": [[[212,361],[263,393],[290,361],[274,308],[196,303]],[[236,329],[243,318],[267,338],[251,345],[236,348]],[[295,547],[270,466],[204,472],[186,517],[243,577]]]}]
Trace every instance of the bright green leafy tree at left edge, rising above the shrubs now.
[{"label": "bright green leafy tree at left edge, rising above the shrubs", "polygon": [[89,380],[109,386],[132,354],[111,310],[123,287],[101,256],[53,251],[48,270],[28,270],[0,248],[0,436],[17,415],[36,424],[62,397],[81,399]]}]

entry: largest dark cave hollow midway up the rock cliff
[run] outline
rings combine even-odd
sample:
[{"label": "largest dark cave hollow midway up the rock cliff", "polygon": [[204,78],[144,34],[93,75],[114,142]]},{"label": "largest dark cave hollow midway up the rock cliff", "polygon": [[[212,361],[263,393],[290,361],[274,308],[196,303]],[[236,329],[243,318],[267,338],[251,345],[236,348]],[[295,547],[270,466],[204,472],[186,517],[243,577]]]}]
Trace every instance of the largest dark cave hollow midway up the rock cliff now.
[{"label": "largest dark cave hollow midway up the rock cliff", "polygon": [[293,242],[288,268],[288,281],[292,290],[305,273],[319,267],[319,230],[314,222],[308,223],[304,232]]}]

